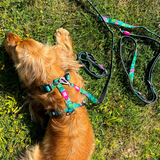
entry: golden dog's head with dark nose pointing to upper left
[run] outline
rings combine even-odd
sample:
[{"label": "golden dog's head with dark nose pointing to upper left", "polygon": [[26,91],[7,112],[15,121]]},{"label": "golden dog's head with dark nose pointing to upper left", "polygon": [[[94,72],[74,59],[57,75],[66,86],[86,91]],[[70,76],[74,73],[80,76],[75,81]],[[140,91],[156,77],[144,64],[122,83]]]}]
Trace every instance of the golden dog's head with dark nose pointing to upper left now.
[{"label": "golden dog's head with dark nose pointing to upper left", "polygon": [[50,53],[52,48],[33,39],[22,40],[16,34],[7,32],[5,48],[15,63],[20,79],[27,87],[49,83],[48,75],[51,72],[55,73],[55,78],[64,73],[59,65],[53,64],[56,55]]}]

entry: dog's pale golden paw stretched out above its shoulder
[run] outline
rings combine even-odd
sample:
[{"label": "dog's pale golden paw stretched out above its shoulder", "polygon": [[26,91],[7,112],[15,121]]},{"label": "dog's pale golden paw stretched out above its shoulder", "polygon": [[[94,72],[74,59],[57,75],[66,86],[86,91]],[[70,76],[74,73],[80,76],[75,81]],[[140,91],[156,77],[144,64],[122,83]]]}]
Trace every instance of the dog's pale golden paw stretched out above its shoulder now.
[{"label": "dog's pale golden paw stretched out above its shoulder", "polygon": [[59,28],[55,33],[56,43],[61,46],[68,54],[75,58],[75,54],[72,49],[72,40],[69,37],[69,32],[66,29]]}]

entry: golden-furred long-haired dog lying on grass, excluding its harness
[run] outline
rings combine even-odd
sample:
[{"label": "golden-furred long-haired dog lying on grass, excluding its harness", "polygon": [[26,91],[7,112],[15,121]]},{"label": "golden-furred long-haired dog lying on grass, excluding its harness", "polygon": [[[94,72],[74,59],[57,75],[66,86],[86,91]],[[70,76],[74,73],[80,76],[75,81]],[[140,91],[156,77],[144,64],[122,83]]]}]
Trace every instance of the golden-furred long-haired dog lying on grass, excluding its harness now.
[{"label": "golden-furred long-haired dog lying on grass, excluding its harness", "polygon": [[[30,112],[33,118],[43,120],[42,112],[66,107],[58,89],[46,93],[40,89],[67,72],[71,82],[84,88],[84,80],[78,74],[69,32],[63,28],[55,33],[57,45],[43,45],[33,39],[22,40],[7,32],[5,48],[15,63],[20,79],[28,90]],[[64,85],[72,103],[82,103],[84,95]],[[43,141],[27,149],[24,160],[89,160],[94,150],[94,136],[85,106],[75,109],[71,115],[62,114],[50,118]]]}]

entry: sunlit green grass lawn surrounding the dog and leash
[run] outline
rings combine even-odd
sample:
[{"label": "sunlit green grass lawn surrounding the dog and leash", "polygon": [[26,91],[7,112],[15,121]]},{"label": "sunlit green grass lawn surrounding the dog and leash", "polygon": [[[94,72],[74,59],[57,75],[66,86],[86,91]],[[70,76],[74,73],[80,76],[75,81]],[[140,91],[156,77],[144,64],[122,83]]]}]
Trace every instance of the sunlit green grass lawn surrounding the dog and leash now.
[{"label": "sunlit green grass lawn surrounding the dog and leash", "polygon": [[[102,15],[127,24],[145,26],[160,35],[159,0],[104,0],[93,1]],[[44,135],[41,126],[31,121],[28,108],[21,110],[25,92],[13,63],[4,49],[4,35],[12,31],[21,38],[30,37],[42,43],[54,44],[57,28],[69,30],[74,51],[93,53],[97,61],[109,71],[111,35],[103,23],[87,11],[92,8],[85,0],[1,0],[0,2],[0,159],[12,160],[26,146],[35,144]],[[158,100],[144,104],[135,97],[129,86],[119,54],[121,34],[115,28],[115,52],[112,80],[104,103],[96,108],[87,106],[95,133],[96,149],[93,160],[160,159],[160,62],[153,72]],[[133,30],[134,34],[146,34]],[[151,36],[151,35],[150,35]],[[154,37],[154,36],[153,36]],[[159,51],[158,44],[137,39],[138,58],[135,67],[134,87],[149,97],[146,85],[148,67]],[[125,41],[123,58],[130,68],[134,45]],[[100,97],[108,76],[94,79],[83,69],[80,74],[88,81],[87,91]],[[41,132],[39,132],[41,130]],[[37,135],[39,135],[37,137]]]}]

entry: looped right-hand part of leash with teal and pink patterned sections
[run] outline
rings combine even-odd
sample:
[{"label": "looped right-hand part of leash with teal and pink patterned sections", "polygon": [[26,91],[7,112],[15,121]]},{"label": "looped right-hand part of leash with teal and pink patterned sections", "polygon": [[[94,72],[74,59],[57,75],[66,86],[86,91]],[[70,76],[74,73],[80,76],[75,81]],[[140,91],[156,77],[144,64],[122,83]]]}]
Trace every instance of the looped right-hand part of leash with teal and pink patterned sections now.
[{"label": "looped right-hand part of leash with teal and pink patterned sections", "polygon": [[[99,19],[101,20],[101,17],[99,17]],[[143,28],[145,29],[147,32],[151,33],[151,34],[154,34],[155,36],[157,36],[158,38],[160,38],[160,36],[154,32],[152,32],[151,30],[143,27],[143,26],[132,26],[132,25],[128,25],[126,23],[123,23],[122,21],[118,21],[118,20],[115,20],[115,19],[110,19],[108,17],[104,17],[103,16],[103,20],[106,22],[106,23],[110,23],[110,24],[114,24],[114,25],[118,25],[118,26],[121,26],[121,27],[125,27],[125,28]],[[129,81],[130,81],[130,86],[131,86],[131,91],[143,102],[145,103],[154,103],[156,100],[157,100],[157,94],[154,90],[154,86],[153,86],[153,83],[152,83],[152,73],[153,73],[153,68],[155,66],[155,64],[157,63],[158,59],[160,58],[160,53],[156,56],[151,68],[150,68],[150,71],[149,71],[149,75],[148,75],[148,84],[150,85],[150,89],[151,89],[151,92],[152,92],[152,100],[146,100],[144,98],[144,96],[137,90],[134,89],[133,87],[133,78],[134,78],[134,71],[135,71],[135,63],[136,63],[136,59],[137,59],[137,42],[135,41],[135,39],[133,37],[137,37],[137,38],[146,38],[146,39],[150,39],[150,40],[153,40],[157,43],[160,44],[159,41],[157,41],[156,39],[154,38],[151,38],[151,37],[147,37],[147,36],[143,36],[143,35],[135,35],[135,34],[131,34],[130,32],[128,31],[125,31],[125,30],[121,30],[121,33],[123,33],[125,36],[123,36],[120,40],[120,56],[121,56],[121,60],[122,60],[122,64],[123,64],[123,67],[124,67],[124,70],[129,78]],[[128,39],[131,39],[134,43],[135,43],[135,46],[136,46],[136,49],[135,49],[135,53],[134,53],[134,57],[133,57],[133,60],[132,60],[132,63],[131,63],[131,67],[130,67],[130,71],[129,73],[127,72],[126,70],[126,67],[125,67],[125,64],[124,64],[124,61],[123,61],[123,56],[122,56],[122,42],[123,42],[123,39],[124,38],[128,38]]]}]

